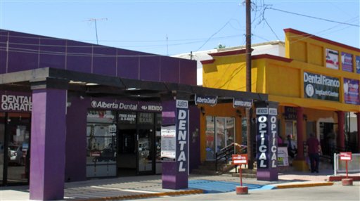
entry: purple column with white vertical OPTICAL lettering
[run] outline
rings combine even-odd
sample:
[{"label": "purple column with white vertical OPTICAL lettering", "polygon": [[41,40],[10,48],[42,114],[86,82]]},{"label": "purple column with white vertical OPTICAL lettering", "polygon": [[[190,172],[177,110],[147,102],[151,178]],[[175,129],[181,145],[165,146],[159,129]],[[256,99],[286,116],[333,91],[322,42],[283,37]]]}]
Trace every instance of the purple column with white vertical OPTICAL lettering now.
[{"label": "purple column with white vertical OPTICAL lettering", "polygon": [[278,180],[278,103],[256,102],[257,180]]}]

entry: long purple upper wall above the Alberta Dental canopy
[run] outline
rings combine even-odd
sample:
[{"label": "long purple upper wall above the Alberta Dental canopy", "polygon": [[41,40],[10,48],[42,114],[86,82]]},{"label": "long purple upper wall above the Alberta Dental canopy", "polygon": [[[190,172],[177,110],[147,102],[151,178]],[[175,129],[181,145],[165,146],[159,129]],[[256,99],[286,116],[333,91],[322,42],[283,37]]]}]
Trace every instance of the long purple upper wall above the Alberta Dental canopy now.
[{"label": "long purple upper wall above the Alberta Dental canopy", "polygon": [[0,30],[0,73],[39,67],[196,85],[195,60]]}]

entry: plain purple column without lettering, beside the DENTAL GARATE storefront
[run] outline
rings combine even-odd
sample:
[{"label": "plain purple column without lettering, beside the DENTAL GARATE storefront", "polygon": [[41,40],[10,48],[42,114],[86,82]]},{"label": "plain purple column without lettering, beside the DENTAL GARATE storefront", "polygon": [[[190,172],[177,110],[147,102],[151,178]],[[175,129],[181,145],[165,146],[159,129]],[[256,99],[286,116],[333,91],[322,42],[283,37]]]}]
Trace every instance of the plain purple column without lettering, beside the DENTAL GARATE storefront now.
[{"label": "plain purple column without lettering, beside the DENTAL GARATE storefront", "polygon": [[66,90],[32,91],[30,200],[63,200]]}]

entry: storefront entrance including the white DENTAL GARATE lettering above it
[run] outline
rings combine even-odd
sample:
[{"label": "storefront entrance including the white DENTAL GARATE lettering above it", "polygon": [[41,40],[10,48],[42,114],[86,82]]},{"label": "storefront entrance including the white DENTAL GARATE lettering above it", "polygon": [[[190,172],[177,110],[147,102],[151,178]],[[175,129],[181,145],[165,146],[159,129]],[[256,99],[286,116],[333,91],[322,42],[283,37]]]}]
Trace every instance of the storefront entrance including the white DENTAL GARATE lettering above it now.
[{"label": "storefront entrance including the white DENTAL GARATE lettering above it", "polygon": [[0,91],[0,186],[25,185],[30,172],[31,97]]}]

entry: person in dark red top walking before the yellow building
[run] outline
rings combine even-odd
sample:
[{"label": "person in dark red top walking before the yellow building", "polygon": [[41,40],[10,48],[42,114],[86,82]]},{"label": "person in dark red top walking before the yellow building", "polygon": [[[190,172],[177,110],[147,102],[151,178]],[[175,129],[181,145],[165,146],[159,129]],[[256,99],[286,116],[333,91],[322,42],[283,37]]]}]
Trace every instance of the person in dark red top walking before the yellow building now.
[{"label": "person in dark red top walking before the yellow building", "polygon": [[310,134],[310,138],[307,139],[307,153],[310,158],[311,173],[319,173],[319,153],[322,154],[321,145],[314,134]]}]

